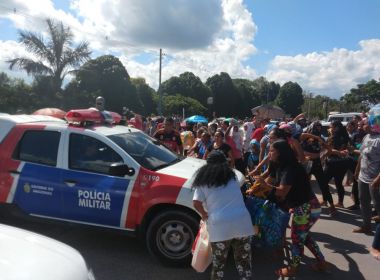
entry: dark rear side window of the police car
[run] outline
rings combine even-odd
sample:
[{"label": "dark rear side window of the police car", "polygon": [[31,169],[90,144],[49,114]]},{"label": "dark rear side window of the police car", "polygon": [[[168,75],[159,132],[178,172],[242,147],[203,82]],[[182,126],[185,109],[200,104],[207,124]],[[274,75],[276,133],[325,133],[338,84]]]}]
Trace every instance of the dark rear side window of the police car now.
[{"label": "dark rear side window of the police car", "polygon": [[61,134],[58,131],[26,131],[14,151],[17,160],[56,166]]}]

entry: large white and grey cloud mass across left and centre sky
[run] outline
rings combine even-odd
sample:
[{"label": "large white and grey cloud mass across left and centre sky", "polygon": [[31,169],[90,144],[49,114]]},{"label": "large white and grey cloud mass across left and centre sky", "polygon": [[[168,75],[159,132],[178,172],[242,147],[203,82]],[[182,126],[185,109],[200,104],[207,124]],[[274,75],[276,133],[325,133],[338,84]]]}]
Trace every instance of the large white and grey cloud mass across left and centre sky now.
[{"label": "large white and grey cloud mass across left and centre sky", "polygon": [[[257,27],[243,0],[73,0],[72,14],[56,10],[50,0],[6,0],[16,14],[0,9],[18,29],[42,32],[42,19],[62,20],[78,40],[88,40],[97,54],[120,54],[130,76],[158,86],[158,49],[164,48],[162,81],[192,71],[205,81],[219,72],[255,78],[244,61],[256,52]],[[27,16],[25,16],[27,15]],[[138,63],[148,52],[156,62]]]}]

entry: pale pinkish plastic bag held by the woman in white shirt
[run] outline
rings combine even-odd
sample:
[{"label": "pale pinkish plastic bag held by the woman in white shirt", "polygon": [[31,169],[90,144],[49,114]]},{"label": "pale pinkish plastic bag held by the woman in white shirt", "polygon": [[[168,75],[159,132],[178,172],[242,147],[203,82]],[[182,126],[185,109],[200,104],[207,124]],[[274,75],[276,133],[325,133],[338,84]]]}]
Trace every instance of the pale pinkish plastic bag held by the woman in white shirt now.
[{"label": "pale pinkish plastic bag held by the woman in white shirt", "polygon": [[193,253],[191,266],[197,272],[204,272],[212,262],[212,252],[207,232],[207,226],[206,223],[202,220],[191,252]]}]

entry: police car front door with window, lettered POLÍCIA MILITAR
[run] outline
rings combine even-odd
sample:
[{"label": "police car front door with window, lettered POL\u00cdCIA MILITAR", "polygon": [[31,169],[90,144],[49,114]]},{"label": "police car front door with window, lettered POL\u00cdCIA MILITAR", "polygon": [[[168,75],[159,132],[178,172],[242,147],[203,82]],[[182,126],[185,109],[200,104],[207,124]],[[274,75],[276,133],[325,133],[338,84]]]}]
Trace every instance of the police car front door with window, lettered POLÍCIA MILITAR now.
[{"label": "police car front door with window, lettered POL\u00cdCIA MILITAR", "polygon": [[124,227],[128,198],[135,177],[109,175],[123,158],[92,136],[69,133],[68,166],[62,173],[64,218],[90,224]]}]

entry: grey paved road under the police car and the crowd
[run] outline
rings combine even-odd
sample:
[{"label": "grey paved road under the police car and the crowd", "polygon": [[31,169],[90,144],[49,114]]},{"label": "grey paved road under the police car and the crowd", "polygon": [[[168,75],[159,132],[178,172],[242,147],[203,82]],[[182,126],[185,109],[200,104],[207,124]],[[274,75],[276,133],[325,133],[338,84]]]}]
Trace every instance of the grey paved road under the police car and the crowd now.
[{"label": "grey paved road under the police car and the crowd", "polygon": [[[346,204],[350,204],[349,198]],[[296,279],[380,279],[380,262],[373,259],[367,250],[373,237],[352,233],[352,229],[360,225],[359,212],[342,209],[334,219],[326,214],[327,209],[323,209],[321,220],[313,228],[313,236],[326,259],[333,263],[331,274],[310,271],[308,264],[313,259],[306,252]],[[142,242],[120,231],[26,217],[3,206],[0,207],[0,222],[36,231],[73,246],[86,258],[98,280],[209,279],[209,270],[198,274],[191,268],[163,267],[150,257]],[[253,279],[277,279],[273,271],[282,265],[283,258],[275,257],[273,252],[255,249]],[[232,258],[229,259],[225,279],[238,279]]]}]

